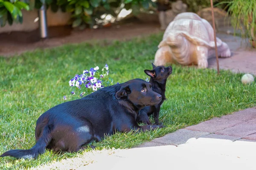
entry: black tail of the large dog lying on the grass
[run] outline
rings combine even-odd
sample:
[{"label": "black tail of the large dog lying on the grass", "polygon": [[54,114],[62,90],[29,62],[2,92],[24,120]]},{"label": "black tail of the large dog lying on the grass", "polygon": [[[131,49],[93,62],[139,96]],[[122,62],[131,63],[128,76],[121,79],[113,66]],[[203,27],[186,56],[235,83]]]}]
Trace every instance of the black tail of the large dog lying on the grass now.
[{"label": "black tail of the large dog lying on the grass", "polygon": [[24,159],[32,159],[36,158],[39,154],[42,154],[45,152],[45,148],[49,144],[49,142],[52,140],[52,136],[50,134],[50,128],[49,125],[46,125],[44,127],[44,131],[39,137],[38,141],[36,142],[35,146],[33,146],[31,149],[28,150],[9,150],[0,157],[4,156],[13,156],[15,158],[24,158]]}]

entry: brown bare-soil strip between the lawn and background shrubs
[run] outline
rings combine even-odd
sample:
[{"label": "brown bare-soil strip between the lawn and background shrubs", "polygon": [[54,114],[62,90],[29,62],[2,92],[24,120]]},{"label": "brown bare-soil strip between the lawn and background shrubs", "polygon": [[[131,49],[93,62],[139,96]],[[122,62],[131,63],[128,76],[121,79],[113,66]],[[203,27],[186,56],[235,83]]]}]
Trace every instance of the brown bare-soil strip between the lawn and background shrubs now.
[{"label": "brown bare-soil strip between the lawn and background shrubs", "polygon": [[36,48],[52,48],[67,43],[92,40],[128,40],[160,32],[156,23],[128,23],[101,29],[72,30],[70,27],[49,28],[49,38],[40,39],[39,30],[0,34],[0,56],[9,57],[33,51]]}]

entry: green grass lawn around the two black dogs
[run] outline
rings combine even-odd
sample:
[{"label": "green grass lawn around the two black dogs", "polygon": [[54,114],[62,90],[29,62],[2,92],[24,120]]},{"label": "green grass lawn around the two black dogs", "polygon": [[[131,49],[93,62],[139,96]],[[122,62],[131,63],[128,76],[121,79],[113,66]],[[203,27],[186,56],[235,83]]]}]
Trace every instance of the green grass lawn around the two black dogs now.
[{"label": "green grass lawn around the two black dogs", "polygon": [[[0,153],[35,144],[35,123],[49,108],[72,98],[68,81],[84,69],[108,63],[114,82],[145,79],[162,34],[127,42],[102,42],[27,52],[0,58]],[[146,133],[117,133],[96,143],[101,148],[130,148],[179,128],[256,105],[256,83],[241,84],[242,74],[173,65],[160,121],[166,128]],[[47,150],[36,160],[0,158],[0,169],[28,169],[79,153]]]}]

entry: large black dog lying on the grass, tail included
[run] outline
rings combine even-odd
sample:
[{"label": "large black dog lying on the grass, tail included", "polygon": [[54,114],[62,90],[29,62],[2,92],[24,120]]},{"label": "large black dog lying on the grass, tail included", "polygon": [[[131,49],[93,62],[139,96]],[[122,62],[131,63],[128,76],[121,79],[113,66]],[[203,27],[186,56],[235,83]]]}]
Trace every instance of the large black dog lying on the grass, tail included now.
[{"label": "large black dog lying on the grass, tail included", "polygon": [[100,141],[116,131],[154,130],[157,125],[139,126],[136,117],[141,108],[157,105],[162,99],[142,79],[108,86],[85,96],[57,105],[37,120],[36,144],[29,150],[9,150],[1,155],[16,158],[36,158],[45,149],[76,152],[84,145]]}]

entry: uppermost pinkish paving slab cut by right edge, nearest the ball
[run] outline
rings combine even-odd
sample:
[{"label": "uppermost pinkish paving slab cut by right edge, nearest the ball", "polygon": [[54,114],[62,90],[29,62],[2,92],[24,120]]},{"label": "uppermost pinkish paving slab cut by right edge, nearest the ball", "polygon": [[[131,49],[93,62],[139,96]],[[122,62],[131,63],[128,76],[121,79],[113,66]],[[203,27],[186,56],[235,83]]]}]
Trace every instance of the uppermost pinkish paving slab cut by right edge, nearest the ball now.
[{"label": "uppermost pinkish paving slab cut by right edge, nearest the ball", "polygon": [[241,120],[243,122],[250,120],[250,119],[256,119],[256,109],[248,108],[243,111],[238,111],[233,114],[222,116],[221,119]]}]

